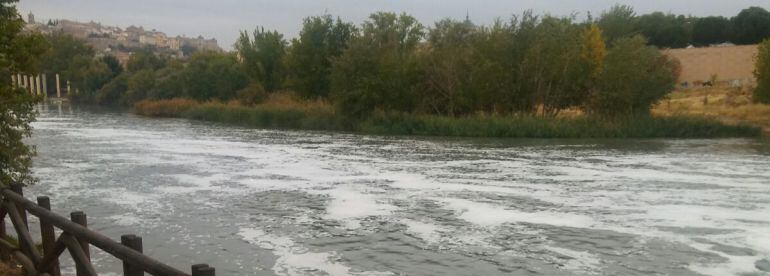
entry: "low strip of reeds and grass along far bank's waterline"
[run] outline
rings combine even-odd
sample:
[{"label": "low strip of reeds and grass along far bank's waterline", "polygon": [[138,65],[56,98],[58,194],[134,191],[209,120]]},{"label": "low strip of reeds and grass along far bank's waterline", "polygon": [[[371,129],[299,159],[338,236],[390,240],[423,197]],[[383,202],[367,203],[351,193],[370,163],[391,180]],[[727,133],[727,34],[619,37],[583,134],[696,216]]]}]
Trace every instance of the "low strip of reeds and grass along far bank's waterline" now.
[{"label": "low strip of reeds and grass along far bank's waterline", "polygon": [[364,121],[337,116],[326,103],[269,99],[256,106],[236,102],[198,103],[186,99],[142,101],[137,114],[181,117],[257,128],[353,131],[387,135],[521,138],[717,138],[757,137],[759,128],[716,120],[657,116],[606,120],[587,116],[541,118],[485,116],[462,118],[377,113]]}]

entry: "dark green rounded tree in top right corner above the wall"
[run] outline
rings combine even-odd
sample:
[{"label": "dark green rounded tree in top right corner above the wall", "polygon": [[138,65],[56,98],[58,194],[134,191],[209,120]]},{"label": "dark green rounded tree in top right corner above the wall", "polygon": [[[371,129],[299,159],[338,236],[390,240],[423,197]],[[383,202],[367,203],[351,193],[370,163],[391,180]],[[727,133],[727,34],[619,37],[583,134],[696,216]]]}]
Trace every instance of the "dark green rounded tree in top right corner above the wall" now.
[{"label": "dark green rounded tree in top right corner above the wall", "polygon": [[735,43],[756,44],[770,37],[770,12],[750,7],[733,17]]}]

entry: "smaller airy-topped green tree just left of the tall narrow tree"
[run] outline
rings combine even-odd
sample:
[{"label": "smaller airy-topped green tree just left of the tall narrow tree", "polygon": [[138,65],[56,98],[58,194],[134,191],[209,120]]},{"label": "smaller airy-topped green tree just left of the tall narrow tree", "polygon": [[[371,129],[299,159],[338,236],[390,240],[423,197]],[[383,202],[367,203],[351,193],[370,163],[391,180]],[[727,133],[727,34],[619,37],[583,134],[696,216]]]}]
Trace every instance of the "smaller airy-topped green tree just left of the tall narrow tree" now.
[{"label": "smaller airy-topped green tree just left of the tall narrow tree", "polygon": [[244,70],[268,92],[278,90],[284,81],[286,47],[282,34],[264,28],[255,30],[253,37],[243,31],[235,42]]}]

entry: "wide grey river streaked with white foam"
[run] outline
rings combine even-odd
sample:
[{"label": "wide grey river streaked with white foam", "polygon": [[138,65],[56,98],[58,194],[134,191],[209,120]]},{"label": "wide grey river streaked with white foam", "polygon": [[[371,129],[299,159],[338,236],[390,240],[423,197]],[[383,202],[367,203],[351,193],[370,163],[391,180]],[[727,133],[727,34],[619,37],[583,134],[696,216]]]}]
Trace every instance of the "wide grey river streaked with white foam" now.
[{"label": "wide grey river streaked with white foam", "polygon": [[[50,105],[54,211],[218,275],[766,275],[770,145],[258,130]],[[105,254],[99,270],[119,272]],[[72,271],[65,265],[65,270]]]}]

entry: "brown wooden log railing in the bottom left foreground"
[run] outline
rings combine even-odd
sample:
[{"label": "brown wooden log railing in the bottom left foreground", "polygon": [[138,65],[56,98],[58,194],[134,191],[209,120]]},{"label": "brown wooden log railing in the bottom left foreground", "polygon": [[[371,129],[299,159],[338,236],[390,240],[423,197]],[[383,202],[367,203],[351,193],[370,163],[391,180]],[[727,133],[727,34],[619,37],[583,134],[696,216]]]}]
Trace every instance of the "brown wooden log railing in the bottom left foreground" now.
[{"label": "brown wooden log railing in the bottom left foreground", "polygon": [[[127,276],[144,275],[145,272],[164,276],[215,276],[214,268],[206,264],[193,265],[192,273],[188,274],[152,259],[142,253],[142,237],[123,235],[118,243],[88,229],[85,213],[72,212],[70,219],[57,215],[51,212],[48,197],[41,196],[37,203],[32,202],[24,198],[20,186],[0,189],[0,197],[0,259],[8,261],[13,257],[28,276],[60,276],[59,256],[64,250],[69,251],[78,276],[95,276],[90,245],[122,260],[123,274]],[[40,220],[42,248],[32,239],[27,213]],[[16,244],[6,234],[6,216],[16,232]],[[61,230],[59,238],[56,238],[55,228]]]}]

